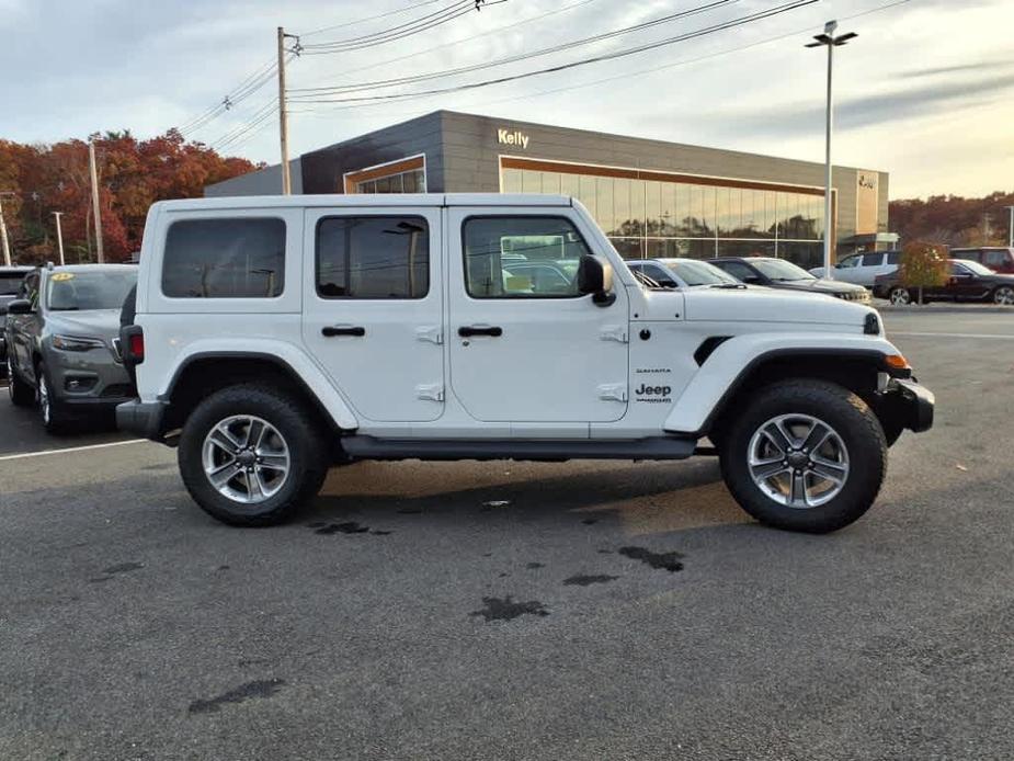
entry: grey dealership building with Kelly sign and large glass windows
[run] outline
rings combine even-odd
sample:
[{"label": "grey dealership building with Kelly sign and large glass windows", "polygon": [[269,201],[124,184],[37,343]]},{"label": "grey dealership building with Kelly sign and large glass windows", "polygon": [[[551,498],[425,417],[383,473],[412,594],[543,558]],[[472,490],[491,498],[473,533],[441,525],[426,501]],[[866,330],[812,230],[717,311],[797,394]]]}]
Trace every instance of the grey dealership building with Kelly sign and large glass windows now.
[{"label": "grey dealership building with Kelly sign and large glass windows", "polygon": [[[555,193],[580,200],[626,258],[822,260],[824,166],[436,111],[290,162],[294,193]],[[834,167],[836,255],[891,248],[886,172]],[[277,166],[205,189],[281,191]]]}]

